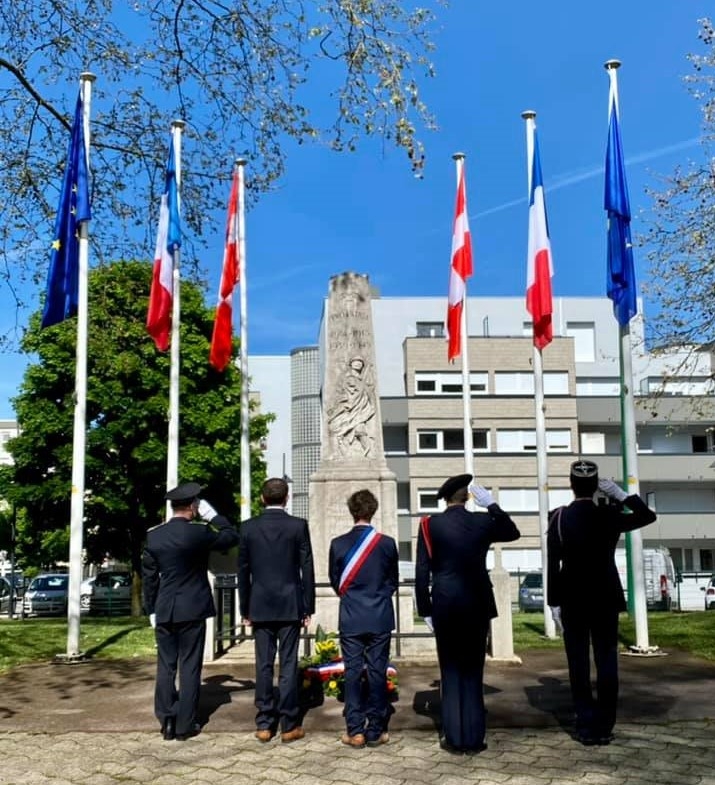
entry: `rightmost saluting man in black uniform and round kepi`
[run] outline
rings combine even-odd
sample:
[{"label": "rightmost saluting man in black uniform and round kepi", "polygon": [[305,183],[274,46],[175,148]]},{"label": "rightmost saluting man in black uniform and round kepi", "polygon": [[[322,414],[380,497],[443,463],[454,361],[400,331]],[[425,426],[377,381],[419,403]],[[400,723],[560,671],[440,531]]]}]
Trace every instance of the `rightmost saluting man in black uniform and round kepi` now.
[{"label": "rightmost saluting man in black uniform and round kepi", "polygon": [[[614,554],[623,532],[652,523],[656,515],[637,494],[599,480],[593,461],[572,463],[570,483],[574,500],[549,515],[546,599],[563,627],[576,736],[583,744],[608,744],[618,701],[618,614],[626,610]],[[595,504],[597,490],[613,503]]]}]

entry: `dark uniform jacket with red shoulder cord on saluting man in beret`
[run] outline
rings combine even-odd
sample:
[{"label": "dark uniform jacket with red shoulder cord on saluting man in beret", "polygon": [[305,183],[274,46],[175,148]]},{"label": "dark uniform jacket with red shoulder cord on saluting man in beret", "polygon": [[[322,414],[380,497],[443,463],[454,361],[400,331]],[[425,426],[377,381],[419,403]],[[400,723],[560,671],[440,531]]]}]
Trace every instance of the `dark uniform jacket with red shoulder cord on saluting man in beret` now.
[{"label": "dark uniform jacket with red shoulder cord on saluting man in beret", "polygon": [[519,539],[514,521],[497,504],[490,504],[487,512],[470,512],[457,504],[430,517],[429,533],[431,558],[422,527],[417,538],[419,615],[455,623],[462,623],[465,617],[494,618],[497,607],[487,572],[487,551],[494,542]]}]

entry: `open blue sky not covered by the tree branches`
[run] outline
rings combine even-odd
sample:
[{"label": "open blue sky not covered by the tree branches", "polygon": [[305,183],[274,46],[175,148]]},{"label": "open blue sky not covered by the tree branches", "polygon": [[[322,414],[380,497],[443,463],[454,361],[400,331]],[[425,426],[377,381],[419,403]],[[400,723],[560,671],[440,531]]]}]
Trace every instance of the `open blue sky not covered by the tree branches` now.
[{"label": "open blue sky not covered by the tree branches", "polygon": [[[621,130],[637,234],[639,212],[649,206],[646,184],[703,154],[700,108],[682,77],[692,73],[686,55],[705,51],[697,20],[711,10],[706,0],[628,0],[610,13],[565,0],[452,0],[438,9],[436,78],[422,89],[439,130],[422,134],[424,178],[379,140],[353,154],[289,147],[285,177],[246,216],[249,354],[315,343],[330,276],[346,270],[369,275],[384,296],[444,297],[446,308],[455,151],[467,156],[475,255],[468,293],[522,295],[525,109],[537,113],[554,294],[605,295],[603,63],[623,63]],[[202,254],[209,302],[222,250],[217,236]],[[647,277],[642,257],[636,253],[639,281]],[[8,417],[23,362],[6,355],[3,369],[0,417]]]}]

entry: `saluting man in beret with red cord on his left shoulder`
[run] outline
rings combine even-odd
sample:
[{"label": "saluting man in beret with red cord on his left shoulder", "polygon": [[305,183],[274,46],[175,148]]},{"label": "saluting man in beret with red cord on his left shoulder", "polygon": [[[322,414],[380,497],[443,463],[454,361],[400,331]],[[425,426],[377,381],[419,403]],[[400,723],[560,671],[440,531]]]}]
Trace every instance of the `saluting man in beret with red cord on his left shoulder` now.
[{"label": "saluting man in beret with red cord on his left shoulder", "polygon": [[[494,542],[520,533],[512,519],[471,474],[448,479],[437,498],[444,512],[424,518],[417,538],[417,612],[434,627],[440,669],[440,745],[453,753],[476,754],[484,743],[484,659],[489,623],[497,615],[486,558]],[[470,491],[487,512],[469,512]],[[432,588],[430,591],[430,577]]]}]

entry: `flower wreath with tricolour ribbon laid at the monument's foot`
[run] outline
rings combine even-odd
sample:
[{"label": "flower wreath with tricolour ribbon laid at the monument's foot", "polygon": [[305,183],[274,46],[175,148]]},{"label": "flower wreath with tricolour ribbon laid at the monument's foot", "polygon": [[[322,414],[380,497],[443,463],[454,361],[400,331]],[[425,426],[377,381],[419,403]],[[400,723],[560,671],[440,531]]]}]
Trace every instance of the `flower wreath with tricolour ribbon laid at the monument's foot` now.
[{"label": "flower wreath with tricolour ribbon laid at the monument's foot", "polygon": [[[344,700],[345,664],[340,656],[340,647],[336,638],[336,633],[326,633],[319,626],[315,634],[315,654],[312,657],[303,657],[298,664],[302,691],[308,704],[320,705],[322,700],[315,703],[318,694],[321,698],[327,695],[340,701]],[[385,689],[389,700],[397,700],[399,695],[397,669],[391,664],[387,666],[385,673]]]}]

